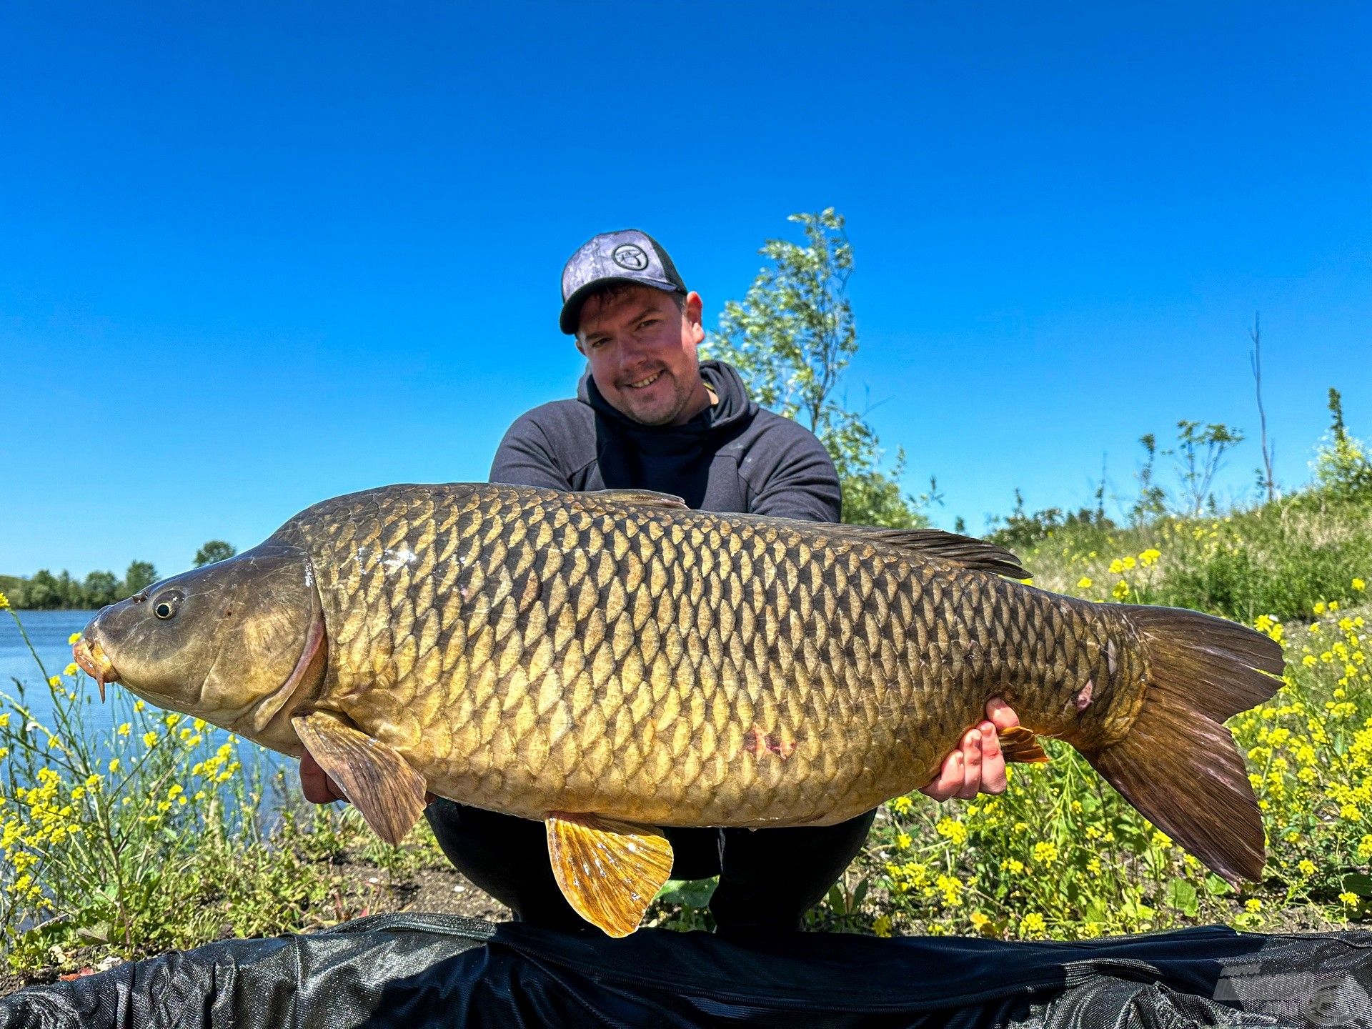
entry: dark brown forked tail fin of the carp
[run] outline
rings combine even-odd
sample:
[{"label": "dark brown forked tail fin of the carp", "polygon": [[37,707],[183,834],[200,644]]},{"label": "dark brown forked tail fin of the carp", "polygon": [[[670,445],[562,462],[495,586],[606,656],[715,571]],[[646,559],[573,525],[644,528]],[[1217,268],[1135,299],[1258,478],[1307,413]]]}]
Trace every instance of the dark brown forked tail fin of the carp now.
[{"label": "dark brown forked tail fin of the carp", "polygon": [[1162,831],[1231,884],[1262,878],[1262,819],[1224,719],[1281,687],[1281,648],[1233,622],[1176,608],[1124,606],[1147,659],[1129,735],[1085,753]]}]

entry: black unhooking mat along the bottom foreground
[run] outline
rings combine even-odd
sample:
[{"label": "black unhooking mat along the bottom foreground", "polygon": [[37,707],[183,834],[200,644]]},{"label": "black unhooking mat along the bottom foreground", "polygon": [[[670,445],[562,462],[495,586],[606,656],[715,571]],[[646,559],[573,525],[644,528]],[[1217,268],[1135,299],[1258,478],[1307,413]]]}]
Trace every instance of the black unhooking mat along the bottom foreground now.
[{"label": "black unhooking mat along the bottom foreground", "polygon": [[564,936],[439,915],[235,940],[0,1000],[0,1026],[1372,1029],[1372,933],[1084,943]]}]

